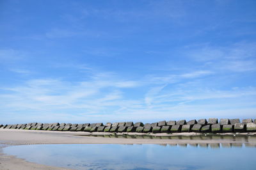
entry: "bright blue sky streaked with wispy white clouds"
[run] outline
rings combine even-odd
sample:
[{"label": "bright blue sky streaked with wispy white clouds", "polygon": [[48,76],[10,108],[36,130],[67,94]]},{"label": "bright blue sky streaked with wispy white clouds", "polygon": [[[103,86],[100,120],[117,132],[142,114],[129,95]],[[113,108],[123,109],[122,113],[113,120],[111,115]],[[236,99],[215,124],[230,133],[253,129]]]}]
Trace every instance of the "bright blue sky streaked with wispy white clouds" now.
[{"label": "bright blue sky streaked with wispy white clouds", "polygon": [[256,1],[0,0],[0,124],[256,118]]}]

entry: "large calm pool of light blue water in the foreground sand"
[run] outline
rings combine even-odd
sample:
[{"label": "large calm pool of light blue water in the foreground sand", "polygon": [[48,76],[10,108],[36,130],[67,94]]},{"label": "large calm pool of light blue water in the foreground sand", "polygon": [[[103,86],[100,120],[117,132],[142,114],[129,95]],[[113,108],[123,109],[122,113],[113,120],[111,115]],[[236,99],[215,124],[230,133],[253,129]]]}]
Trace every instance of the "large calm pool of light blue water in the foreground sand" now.
[{"label": "large calm pool of light blue water in the foreground sand", "polygon": [[255,169],[256,148],[240,144],[44,144],[4,153],[71,169]]}]

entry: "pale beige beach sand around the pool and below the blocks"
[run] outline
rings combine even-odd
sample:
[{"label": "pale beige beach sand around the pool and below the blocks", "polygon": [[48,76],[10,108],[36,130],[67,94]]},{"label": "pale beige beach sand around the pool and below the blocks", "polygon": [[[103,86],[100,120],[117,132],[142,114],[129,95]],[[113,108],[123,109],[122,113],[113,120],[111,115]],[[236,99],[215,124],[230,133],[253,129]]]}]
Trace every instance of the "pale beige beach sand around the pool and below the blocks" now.
[{"label": "pale beige beach sand around the pool and below the blocks", "polygon": [[[110,137],[92,137],[88,132],[58,132],[44,130],[17,130],[0,128],[1,148],[12,145],[22,144],[200,144],[200,143],[241,143],[233,139],[127,139]],[[108,134],[94,132],[93,134]],[[125,133],[127,134],[127,133]],[[134,133],[133,133],[134,134]],[[142,135],[142,134],[136,134]],[[145,134],[143,134],[145,135]],[[151,135],[170,135],[170,134],[151,134]],[[172,135],[198,135],[196,133],[180,133]],[[252,135],[255,135],[252,134]],[[251,141],[251,143],[254,141]],[[250,141],[243,141],[250,143]],[[256,142],[255,142],[256,143]],[[63,169],[59,167],[45,166],[27,162],[12,155],[5,155],[0,148],[0,169]]]}]

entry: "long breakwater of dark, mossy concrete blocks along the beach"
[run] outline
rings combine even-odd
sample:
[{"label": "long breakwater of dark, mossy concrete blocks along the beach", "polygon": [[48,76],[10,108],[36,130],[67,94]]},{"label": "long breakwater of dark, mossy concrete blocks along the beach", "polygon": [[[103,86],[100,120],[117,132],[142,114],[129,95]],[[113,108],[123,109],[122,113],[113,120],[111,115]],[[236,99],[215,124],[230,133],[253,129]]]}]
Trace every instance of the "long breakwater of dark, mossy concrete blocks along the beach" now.
[{"label": "long breakwater of dark, mossy concrete blocks along the beach", "polygon": [[256,119],[220,119],[159,121],[156,123],[116,122],[116,123],[24,123],[0,125],[0,128],[24,130],[57,130],[72,132],[138,132],[138,133],[241,133],[256,132]]}]

